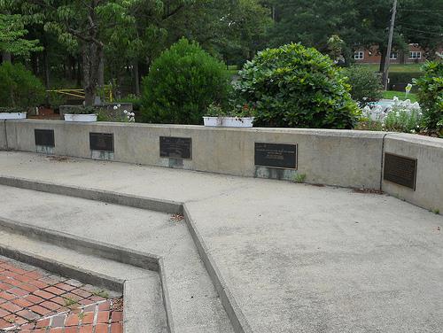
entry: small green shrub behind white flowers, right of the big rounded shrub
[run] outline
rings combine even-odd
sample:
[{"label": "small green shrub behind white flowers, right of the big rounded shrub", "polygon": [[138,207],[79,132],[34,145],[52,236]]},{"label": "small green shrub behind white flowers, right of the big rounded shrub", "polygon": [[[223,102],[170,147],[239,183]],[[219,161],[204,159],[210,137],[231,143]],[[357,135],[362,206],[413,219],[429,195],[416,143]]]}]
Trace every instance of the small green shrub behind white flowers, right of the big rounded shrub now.
[{"label": "small green shrub behind white flowers, right of the big rounded shrub", "polygon": [[351,85],[351,96],[359,106],[364,107],[383,97],[381,79],[367,66],[351,66],[344,74]]}]

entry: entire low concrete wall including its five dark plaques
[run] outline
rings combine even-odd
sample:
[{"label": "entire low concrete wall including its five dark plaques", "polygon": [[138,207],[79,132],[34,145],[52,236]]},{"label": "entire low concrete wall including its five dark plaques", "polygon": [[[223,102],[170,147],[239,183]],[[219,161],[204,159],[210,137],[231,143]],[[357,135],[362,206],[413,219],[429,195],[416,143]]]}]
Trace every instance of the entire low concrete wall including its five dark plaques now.
[{"label": "entire low concrete wall including its five dark plaques", "polygon": [[443,140],[385,132],[7,120],[0,149],[383,190],[443,212]]}]

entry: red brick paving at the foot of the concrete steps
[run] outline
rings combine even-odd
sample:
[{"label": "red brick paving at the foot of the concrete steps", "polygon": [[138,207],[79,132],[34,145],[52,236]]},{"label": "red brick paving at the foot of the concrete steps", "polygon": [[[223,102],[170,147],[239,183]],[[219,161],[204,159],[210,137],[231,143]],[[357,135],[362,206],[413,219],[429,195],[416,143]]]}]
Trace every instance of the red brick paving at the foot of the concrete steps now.
[{"label": "red brick paving at the foot of the concrete steps", "polygon": [[121,295],[0,259],[2,332],[121,333],[122,306]]}]

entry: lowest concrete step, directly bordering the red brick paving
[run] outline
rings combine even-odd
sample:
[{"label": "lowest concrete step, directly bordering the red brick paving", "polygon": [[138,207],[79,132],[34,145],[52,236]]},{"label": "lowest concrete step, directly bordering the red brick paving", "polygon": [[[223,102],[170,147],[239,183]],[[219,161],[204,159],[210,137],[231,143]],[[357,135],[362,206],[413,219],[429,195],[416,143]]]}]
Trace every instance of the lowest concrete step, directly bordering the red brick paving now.
[{"label": "lowest concrete step, directly bordering the red brick paving", "polygon": [[125,333],[167,332],[157,272],[76,252],[5,229],[0,229],[0,252],[97,288],[122,290]]}]

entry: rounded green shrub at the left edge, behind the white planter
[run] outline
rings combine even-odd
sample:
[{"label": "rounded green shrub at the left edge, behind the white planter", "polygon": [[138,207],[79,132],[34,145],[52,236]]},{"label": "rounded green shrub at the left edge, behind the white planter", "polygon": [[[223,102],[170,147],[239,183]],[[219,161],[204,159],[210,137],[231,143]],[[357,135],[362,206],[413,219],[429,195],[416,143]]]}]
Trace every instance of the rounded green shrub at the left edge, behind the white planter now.
[{"label": "rounded green shrub at the left edge, behind the white planter", "polygon": [[43,83],[21,64],[0,66],[0,105],[27,108],[43,103]]}]

